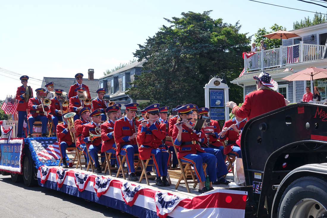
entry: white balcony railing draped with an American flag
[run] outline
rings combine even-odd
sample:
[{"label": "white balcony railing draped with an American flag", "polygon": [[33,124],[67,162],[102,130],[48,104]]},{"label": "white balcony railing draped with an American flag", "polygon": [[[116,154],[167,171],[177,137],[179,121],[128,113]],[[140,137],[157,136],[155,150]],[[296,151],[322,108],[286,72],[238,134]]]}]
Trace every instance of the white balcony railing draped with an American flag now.
[{"label": "white balcony railing draped with an American flag", "polygon": [[244,55],[246,71],[264,70],[307,61],[325,58],[327,45],[301,44],[281,46],[280,48],[255,52],[250,57]]}]

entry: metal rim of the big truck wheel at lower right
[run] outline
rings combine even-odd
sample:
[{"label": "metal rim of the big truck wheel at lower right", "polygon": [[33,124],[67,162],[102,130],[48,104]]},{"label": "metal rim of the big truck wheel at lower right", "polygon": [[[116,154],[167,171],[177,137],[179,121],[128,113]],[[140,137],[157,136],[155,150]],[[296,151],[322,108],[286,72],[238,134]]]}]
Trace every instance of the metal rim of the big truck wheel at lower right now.
[{"label": "metal rim of the big truck wheel at lower right", "polygon": [[327,210],[320,202],[312,198],[304,198],[296,203],[292,209],[290,218],[318,218],[326,214]]}]

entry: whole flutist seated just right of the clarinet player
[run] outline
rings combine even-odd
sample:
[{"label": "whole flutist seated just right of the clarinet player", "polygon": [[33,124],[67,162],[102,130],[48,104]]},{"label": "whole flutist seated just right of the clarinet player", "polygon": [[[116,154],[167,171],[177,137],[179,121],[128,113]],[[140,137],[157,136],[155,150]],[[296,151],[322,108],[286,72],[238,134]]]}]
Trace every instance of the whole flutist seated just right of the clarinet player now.
[{"label": "whole flutist seated just right of the clarinet player", "polygon": [[137,141],[140,144],[140,158],[142,160],[150,157],[153,159],[157,173],[156,185],[163,187],[170,186],[166,179],[170,154],[162,145],[162,140],[167,135],[166,125],[156,120],[159,118],[159,106],[160,104],[152,104],[144,109],[147,119],[139,125]]}]

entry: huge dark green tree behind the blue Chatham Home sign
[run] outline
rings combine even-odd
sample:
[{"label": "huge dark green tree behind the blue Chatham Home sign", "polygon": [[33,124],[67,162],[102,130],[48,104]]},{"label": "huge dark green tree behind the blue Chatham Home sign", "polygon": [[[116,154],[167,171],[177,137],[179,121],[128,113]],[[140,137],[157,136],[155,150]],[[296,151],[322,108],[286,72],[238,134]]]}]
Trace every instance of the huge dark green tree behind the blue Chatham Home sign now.
[{"label": "huge dark green tree behind the blue Chatham Home sign", "polygon": [[[249,50],[250,38],[239,33],[240,25],[212,19],[211,11],[183,12],[182,17],[165,19],[163,26],[134,53],[143,64],[141,75],[132,82],[132,99],[149,99],[175,107],[182,103],[204,106],[204,85],[210,76],[225,73],[230,86],[230,100],[243,101],[243,90],[229,81],[243,69],[242,52]],[[151,71],[150,73],[148,73]],[[141,105],[140,105],[141,106]]]}]

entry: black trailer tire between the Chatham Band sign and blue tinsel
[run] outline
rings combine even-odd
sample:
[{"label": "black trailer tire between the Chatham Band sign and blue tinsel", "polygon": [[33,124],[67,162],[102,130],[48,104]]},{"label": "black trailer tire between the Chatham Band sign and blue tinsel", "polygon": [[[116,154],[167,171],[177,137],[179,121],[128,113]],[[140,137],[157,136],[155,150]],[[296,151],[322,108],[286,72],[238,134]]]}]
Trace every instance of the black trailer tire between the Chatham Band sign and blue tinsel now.
[{"label": "black trailer tire between the Chatham Band sign and blue tinsel", "polygon": [[30,152],[26,152],[23,158],[23,181],[26,186],[36,186],[38,180],[34,178],[34,166]]}]

